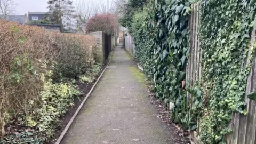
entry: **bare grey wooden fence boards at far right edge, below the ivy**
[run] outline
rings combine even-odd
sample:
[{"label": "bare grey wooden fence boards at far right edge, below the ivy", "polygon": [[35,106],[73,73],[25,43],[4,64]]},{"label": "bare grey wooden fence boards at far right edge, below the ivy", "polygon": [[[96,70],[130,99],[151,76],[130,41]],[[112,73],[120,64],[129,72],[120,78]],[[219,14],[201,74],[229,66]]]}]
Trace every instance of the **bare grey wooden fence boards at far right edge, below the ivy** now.
[{"label": "bare grey wooden fence boards at far right edge, below the ivy", "polygon": [[[255,41],[255,31],[251,34],[251,42],[250,42],[250,52],[253,49],[253,43]],[[249,77],[247,78],[246,85],[246,94],[249,94],[252,91],[256,90],[256,68],[255,68],[256,59],[254,58],[252,62],[251,72]],[[227,135],[226,140],[227,143],[238,143],[238,144],[247,144],[247,143],[255,143],[255,134],[256,134],[256,103],[245,97],[245,109],[247,111],[247,115],[242,115],[238,113],[234,113],[232,120],[229,124],[230,129],[232,129],[232,133]]]}]

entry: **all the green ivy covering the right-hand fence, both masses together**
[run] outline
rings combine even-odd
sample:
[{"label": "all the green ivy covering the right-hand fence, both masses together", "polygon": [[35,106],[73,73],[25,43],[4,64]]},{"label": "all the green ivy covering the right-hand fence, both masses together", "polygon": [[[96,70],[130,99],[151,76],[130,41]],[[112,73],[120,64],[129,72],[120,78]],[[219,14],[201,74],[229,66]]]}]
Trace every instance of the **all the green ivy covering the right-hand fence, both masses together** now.
[{"label": "all the green ivy covering the right-hand fence, both masses together", "polygon": [[[246,79],[255,51],[254,44],[249,53],[255,5],[242,0],[201,2],[202,76],[195,85],[182,89],[192,2],[156,0],[137,11],[131,25],[135,58],[155,85],[156,97],[166,105],[174,103],[174,122],[189,130],[199,126],[203,143],[225,143],[232,114],[246,114]],[[186,101],[187,92],[191,99]]]}]

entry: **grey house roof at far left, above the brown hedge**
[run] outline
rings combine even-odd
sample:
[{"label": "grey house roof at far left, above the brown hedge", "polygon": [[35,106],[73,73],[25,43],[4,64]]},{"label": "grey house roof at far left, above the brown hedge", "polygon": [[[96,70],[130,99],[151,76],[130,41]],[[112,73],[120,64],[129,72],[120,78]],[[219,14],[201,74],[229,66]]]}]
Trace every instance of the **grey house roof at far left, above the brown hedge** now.
[{"label": "grey house roof at far left, above the brown hedge", "polygon": [[19,24],[26,24],[28,23],[28,15],[6,15],[6,19],[4,15],[0,15],[0,19],[6,20],[6,21],[14,21]]}]

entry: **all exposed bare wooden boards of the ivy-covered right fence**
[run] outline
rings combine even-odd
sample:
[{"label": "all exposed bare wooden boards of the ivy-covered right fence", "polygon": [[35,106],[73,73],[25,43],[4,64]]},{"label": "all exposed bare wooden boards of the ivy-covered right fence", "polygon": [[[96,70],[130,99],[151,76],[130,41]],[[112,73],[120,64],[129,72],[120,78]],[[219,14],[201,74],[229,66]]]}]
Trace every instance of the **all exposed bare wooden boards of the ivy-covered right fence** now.
[{"label": "all exposed bare wooden boards of the ivy-covered right fence", "polygon": [[[191,5],[191,16],[189,19],[190,26],[190,51],[189,59],[186,66],[186,85],[187,87],[193,86],[202,75],[201,64],[201,49],[199,43],[199,5],[195,3]],[[251,34],[250,51],[252,51],[253,43],[255,41],[255,31]],[[256,59],[254,58],[250,75],[247,79],[246,95],[252,91],[256,91]],[[191,95],[187,93],[187,103]],[[229,127],[232,133],[226,135],[226,141],[228,144],[238,143],[256,143],[256,103],[245,97],[247,115],[239,113],[233,113],[232,119],[229,123]],[[189,104],[189,103],[188,103]],[[198,121],[198,130],[199,121]]]}]

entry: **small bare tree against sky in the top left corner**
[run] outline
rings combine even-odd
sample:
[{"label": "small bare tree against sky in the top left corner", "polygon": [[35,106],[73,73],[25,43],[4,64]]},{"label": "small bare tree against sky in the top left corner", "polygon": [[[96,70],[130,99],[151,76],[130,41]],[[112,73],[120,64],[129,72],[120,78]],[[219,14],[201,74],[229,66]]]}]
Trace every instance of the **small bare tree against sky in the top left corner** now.
[{"label": "small bare tree against sky in the top left corner", "polygon": [[0,13],[4,15],[4,20],[7,20],[7,15],[14,14],[17,4],[13,0],[0,0]]}]

